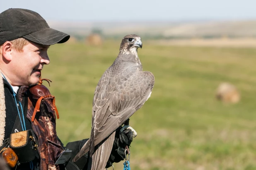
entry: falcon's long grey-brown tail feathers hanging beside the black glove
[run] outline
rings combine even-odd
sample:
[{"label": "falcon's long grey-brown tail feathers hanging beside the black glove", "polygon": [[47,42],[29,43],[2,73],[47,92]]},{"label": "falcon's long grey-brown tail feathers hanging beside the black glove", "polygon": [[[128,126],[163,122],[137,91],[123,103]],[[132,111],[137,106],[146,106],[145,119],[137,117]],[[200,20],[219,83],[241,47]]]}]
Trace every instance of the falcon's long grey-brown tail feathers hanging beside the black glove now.
[{"label": "falcon's long grey-brown tail feathers hanging beside the black glove", "polygon": [[106,167],[106,163],[109,160],[109,156],[114,144],[116,131],[114,131],[104,142],[98,145],[92,155],[89,158],[88,168],[87,170],[104,170]]}]

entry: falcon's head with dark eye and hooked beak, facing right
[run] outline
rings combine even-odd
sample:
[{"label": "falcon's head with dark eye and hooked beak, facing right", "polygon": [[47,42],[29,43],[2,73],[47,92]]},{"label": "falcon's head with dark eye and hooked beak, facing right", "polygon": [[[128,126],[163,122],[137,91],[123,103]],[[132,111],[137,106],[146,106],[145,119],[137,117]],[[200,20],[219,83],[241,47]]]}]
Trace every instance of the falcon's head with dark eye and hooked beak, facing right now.
[{"label": "falcon's head with dark eye and hooked beak, facing right", "polygon": [[126,35],[120,45],[120,52],[123,54],[137,54],[138,47],[142,48],[142,42],[138,35]]}]

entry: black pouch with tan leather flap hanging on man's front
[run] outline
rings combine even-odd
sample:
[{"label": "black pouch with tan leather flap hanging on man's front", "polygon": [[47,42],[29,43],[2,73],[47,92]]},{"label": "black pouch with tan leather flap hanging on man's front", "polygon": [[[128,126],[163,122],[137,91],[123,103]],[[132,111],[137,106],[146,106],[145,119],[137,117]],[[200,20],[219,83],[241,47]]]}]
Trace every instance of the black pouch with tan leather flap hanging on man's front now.
[{"label": "black pouch with tan leather flap hanging on man's front", "polygon": [[33,161],[36,156],[36,145],[31,130],[12,133],[10,148],[17,154],[20,163]]}]

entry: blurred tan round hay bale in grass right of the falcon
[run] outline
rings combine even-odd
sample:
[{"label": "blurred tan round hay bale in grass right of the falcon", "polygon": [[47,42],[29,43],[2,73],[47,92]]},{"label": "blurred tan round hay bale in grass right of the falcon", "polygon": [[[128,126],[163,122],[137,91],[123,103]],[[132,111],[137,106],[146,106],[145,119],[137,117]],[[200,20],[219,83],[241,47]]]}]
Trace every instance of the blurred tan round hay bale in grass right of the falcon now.
[{"label": "blurred tan round hay bale in grass right of the falcon", "polygon": [[240,101],[240,94],[234,85],[221,83],[217,88],[216,98],[225,103],[237,103]]}]

